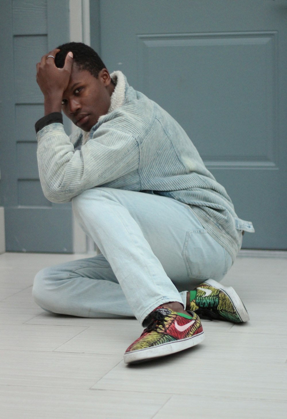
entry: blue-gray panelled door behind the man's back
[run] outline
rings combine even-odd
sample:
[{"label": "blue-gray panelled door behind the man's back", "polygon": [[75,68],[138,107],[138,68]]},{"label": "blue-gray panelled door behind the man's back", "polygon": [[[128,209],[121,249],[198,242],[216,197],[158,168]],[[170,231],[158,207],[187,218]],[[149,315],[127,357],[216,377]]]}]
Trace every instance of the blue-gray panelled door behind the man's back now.
[{"label": "blue-gray panelled door behind the man's back", "polygon": [[286,249],[287,1],[100,0],[99,21],[108,69],[177,119],[253,222],[243,248]]}]

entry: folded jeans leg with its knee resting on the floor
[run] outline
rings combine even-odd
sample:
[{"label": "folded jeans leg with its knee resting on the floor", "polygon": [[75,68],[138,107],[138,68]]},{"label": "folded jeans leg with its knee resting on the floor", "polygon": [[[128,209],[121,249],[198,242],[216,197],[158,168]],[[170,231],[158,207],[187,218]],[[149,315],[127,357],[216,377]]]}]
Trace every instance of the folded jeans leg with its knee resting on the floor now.
[{"label": "folded jeans leg with its knee resting on the floor", "polygon": [[33,286],[46,311],[79,317],[134,317],[103,255],[42,269]]}]

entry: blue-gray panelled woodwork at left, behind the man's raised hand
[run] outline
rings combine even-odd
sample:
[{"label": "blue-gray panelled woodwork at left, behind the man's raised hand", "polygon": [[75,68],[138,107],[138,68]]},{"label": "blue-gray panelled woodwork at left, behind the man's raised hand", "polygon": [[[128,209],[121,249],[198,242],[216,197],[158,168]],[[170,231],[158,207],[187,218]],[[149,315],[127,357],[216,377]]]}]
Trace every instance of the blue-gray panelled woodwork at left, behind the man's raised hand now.
[{"label": "blue-gray panelled woodwork at left, behind the man's raised hand", "polygon": [[36,63],[69,39],[68,0],[1,2],[0,202],[6,251],[72,252],[70,204],[43,195],[34,124],[44,115]]}]

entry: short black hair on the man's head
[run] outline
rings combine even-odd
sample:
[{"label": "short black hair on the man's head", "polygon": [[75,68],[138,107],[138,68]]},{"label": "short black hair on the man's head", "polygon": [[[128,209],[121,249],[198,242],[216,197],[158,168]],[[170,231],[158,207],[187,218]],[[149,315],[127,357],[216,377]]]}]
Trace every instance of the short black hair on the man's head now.
[{"label": "short black hair on the man's head", "polygon": [[55,57],[55,65],[63,68],[65,58],[68,52],[73,52],[73,62],[75,62],[79,70],[88,70],[91,75],[98,78],[99,72],[103,68],[107,68],[96,51],[82,42],[68,42],[57,47],[60,49]]}]

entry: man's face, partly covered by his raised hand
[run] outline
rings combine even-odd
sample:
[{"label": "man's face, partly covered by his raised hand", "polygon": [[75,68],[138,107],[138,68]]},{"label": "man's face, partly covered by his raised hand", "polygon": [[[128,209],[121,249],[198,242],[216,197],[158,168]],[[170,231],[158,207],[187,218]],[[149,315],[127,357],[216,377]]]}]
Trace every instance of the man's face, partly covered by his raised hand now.
[{"label": "man's face, partly covered by his raised hand", "polygon": [[77,127],[89,132],[100,116],[110,107],[113,91],[107,69],[95,78],[87,70],[79,70],[73,64],[68,87],[63,93],[62,110]]}]

